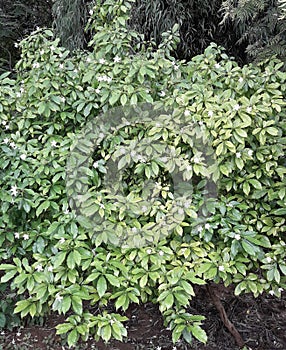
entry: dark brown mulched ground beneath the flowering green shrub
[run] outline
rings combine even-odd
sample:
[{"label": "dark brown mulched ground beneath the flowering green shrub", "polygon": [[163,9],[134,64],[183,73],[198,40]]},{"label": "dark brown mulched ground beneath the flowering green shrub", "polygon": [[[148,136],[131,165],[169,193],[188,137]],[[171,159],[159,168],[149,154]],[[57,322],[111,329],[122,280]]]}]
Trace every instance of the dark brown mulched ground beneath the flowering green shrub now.
[{"label": "dark brown mulched ground beneath the flowering green shrub", "polygon": [[[126,312],[129,317],[128,339],[125,343],[111,341],[108,344],[90,340],[79,344],[80,350],[238,350],[234,338],[224,327],[218,311],[206,289],[201,287],[191,302],[189,311],[206,317],[203,328],[208,334],[208,343],[194,340],[192,345],[183,341],[172,344],[171,332],[163,326],[157,305],[132,305]],[[233,288],[216,287],[227,315],[251,350],[286,350],[286,293],[281,299],[271,295],[254,298],[251,295],[234,297]],[[92,311],[92,310],[91,310]],[[43,326],[27,326],[14,332],[0,335],[0,350],[63,350],[62,340],[55,335],[54,327],[63,322],[63,316],[52,315]],[[20,334],[21,333],[21,334]]]}]

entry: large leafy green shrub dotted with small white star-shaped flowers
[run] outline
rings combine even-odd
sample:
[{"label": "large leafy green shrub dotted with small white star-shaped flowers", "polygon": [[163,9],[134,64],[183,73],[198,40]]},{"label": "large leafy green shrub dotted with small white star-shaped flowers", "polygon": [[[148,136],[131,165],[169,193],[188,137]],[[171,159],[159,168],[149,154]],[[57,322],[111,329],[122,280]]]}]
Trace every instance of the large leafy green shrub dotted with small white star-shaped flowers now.
[{"label": "large leafy green shrub dotted with small white star-shaped flowers", "polygon": [[282,63],[239,67],[215,44],[177,61],[177,26],[154,49],[131,5],[95,4],[92,52],[35,31],[0,77],[1,288],[22,318],[67,314],[69,346],[122,341],[146,302],[174,343],[205,343],[197,285],[285,288]]}]

